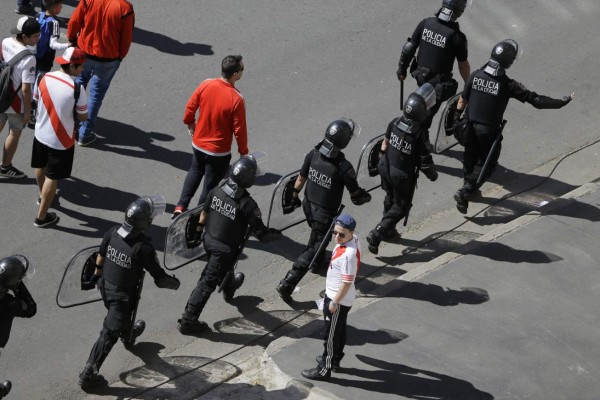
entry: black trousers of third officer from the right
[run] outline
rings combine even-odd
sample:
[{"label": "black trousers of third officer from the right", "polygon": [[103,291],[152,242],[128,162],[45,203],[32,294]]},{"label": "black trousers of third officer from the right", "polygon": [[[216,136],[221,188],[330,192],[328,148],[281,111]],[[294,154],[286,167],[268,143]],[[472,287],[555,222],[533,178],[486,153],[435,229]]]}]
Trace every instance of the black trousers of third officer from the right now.
[{"label": "black trousers of third officer from the right", "polygon": [[383,200],[383,218],[377,224],[377,232],[383,236],[396,228],[398,222],[406,216],[414,191],[414,172],[388,167],[388,161],[382,158],[378,165],[381,188],[385,191]]}]

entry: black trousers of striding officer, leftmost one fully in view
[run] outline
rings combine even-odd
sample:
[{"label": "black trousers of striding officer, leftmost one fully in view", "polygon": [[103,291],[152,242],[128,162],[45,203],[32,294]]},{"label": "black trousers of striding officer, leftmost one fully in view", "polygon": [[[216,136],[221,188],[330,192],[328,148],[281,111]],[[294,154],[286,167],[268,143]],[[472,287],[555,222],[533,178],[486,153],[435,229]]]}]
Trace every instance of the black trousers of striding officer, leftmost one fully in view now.
[{"label": "black trousers of striding officer, leftmost one fully in view", "polygon": [[98,281],[98,287],[108,313],[104,318],[100,337],[94,343],[87,361],[96,371],[104,363],[119,336],[123,338],[129,336],[132,329],[131,315],[134,311],[132,304],[135,303],[135,293],[121,291],[118,286],[104,279]]}]

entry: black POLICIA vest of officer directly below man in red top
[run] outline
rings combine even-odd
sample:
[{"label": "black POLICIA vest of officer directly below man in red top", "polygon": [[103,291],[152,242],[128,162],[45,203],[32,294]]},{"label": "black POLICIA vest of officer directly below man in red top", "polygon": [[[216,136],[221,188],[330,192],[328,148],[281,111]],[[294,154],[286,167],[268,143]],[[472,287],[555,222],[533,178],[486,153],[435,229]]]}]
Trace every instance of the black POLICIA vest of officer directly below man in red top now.
[{"label": "black POLICIA vest of officer directly below man in red top", "polygon": [[221,243],[237,248],[248,228],[248,222],[242,215],[242,206],[249,197],[246,192],[241,199],[234,200],[217,186],[206,199],[209,202],[206,233]]}]

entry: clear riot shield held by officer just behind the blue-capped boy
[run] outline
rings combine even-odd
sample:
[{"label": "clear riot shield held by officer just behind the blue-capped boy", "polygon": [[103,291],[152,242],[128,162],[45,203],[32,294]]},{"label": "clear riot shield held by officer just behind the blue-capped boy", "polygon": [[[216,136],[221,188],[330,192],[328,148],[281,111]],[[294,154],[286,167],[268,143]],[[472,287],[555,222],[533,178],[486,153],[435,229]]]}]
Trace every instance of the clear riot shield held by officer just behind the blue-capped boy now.
[{"label": "clear riot shield held by officer just behind the blue-capped boy", "polygon": [[291,200],[291,192],[299,172],[297,170],[282,176],[275,185],[275,190],[273,190],[273,194],[271,195],[271,204],[269,205],[269,216],[267,217],[267,226],[269,228],[283,231],[306,220],[302,207],[296,208],[290,214],[283,213],[284,204],[289,204]]}]

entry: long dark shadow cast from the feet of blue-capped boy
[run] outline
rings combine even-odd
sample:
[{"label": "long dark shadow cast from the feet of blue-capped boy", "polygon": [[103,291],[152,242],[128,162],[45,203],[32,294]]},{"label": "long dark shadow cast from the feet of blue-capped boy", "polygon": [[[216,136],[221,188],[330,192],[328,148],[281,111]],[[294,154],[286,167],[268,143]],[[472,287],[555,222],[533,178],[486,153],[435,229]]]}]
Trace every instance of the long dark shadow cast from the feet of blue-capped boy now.
[{"label": "long dark shadow cast from the feet of blue-capped boy", "polygon": [[376,358],[356,355],[361,362],[377,370],[343,368],[346,375],[364,380],[341,378],[336,374],[332,383],[362,389],[374,393],[389,393],[408,399],[453,399],[453,400],[493,400],[494,396],[483,392],[472,383],[433,371],[412,368]]}]

